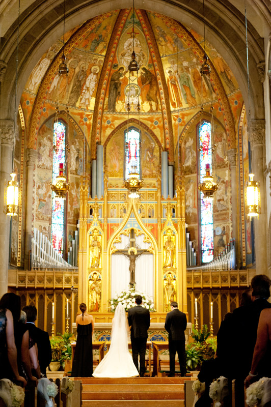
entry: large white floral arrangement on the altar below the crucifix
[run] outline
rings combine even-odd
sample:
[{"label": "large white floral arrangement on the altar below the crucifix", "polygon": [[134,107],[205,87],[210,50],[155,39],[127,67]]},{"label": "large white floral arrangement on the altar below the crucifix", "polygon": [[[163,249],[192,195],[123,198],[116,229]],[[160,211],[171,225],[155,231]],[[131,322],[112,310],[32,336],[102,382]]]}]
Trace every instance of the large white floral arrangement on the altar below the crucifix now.
[{"label": "large white floral arrangement on the altar below the crucifix", "polygon": [[142,296],[143,307],[147,308],[150,312],[156,312],[153,299],[149,298],[144,293],[136,291],[134,288],[130,288],[128,291],[122,291],[116,298],[111,299],[111,312],[115,312],[115,309],[119,304],[122,304],[127,312],[128,309],[134,307],[134,301],[136,301],[138,295]]}]

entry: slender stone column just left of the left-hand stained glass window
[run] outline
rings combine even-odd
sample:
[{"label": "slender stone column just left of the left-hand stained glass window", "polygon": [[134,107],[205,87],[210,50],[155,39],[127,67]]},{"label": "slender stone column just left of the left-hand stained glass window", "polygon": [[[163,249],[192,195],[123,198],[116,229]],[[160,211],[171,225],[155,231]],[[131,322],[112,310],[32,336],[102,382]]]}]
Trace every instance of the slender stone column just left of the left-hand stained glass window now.
[{"label": "slender stone column just left of the left-hand stained glass window", "polygon": [[29,270],[29,251],[32,239],[32,211],[33,211],[33,186],[34,167],[37,159],[37,151],[26,149],[26,206],[25,206],[25,242],[24,242],[24,270]]}]

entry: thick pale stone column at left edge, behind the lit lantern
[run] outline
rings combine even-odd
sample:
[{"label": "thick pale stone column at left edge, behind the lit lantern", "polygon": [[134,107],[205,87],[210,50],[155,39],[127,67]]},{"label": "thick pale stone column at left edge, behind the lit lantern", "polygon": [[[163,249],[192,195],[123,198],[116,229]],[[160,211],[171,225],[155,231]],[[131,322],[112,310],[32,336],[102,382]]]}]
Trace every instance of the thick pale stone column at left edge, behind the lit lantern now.
[{"label": "thick pale stone column at left edge, behind the lit lantern", "polygon": [[0,177],[0,298],[8,290],[10,216],[3,212],[5,181],[10,181],[12,171],[13,120],[0,120],[1,177]]}]

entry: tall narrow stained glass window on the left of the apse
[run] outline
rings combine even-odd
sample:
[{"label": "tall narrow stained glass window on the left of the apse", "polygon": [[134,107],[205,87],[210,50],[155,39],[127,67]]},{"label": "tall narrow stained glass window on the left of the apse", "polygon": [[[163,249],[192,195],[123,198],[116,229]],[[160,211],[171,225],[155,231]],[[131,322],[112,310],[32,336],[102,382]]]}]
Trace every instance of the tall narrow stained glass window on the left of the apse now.
[{"label": "tall narrow stained glass window on the left of the apse", "polygon": [[[56,146],[56,150],[53,153],[52,182],[55,182],[59,175],[59,164],[63,163],[65,166],[65,141],[66,127],[62,122],[57,122],[53,126],[53,144]],[[55,192],[52,192],[51,243],[60,254],[63,254],[64,203],[64,199],[59,199]]]}]

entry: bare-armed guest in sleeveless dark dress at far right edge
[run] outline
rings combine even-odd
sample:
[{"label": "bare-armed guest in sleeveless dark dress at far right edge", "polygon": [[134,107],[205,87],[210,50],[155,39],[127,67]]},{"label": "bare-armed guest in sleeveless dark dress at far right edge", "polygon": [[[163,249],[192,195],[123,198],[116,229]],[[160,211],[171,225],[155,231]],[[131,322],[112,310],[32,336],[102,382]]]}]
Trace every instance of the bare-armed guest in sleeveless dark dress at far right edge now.
[{"label": "bare-armed guest in sleeveless dark dress at far right edge", "polygon": [[260,377],[271,377],[271,309],[263,309],[260,314],[257,341],[254,347],[251,369],[245,379],[248,387]]}]

